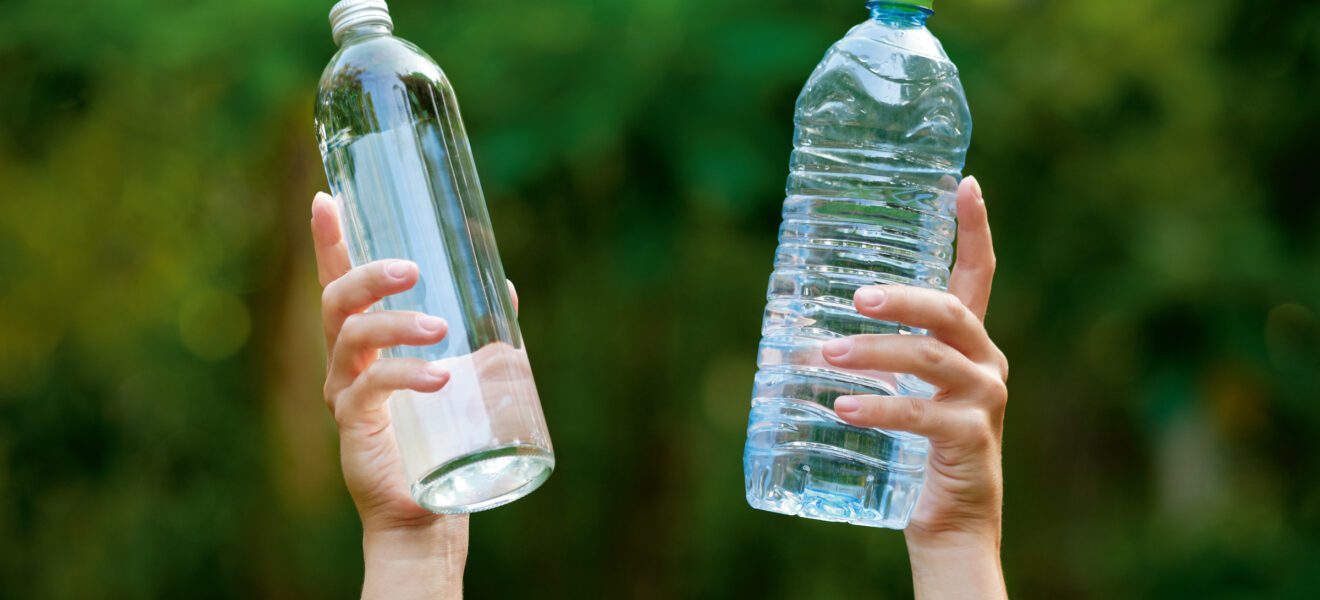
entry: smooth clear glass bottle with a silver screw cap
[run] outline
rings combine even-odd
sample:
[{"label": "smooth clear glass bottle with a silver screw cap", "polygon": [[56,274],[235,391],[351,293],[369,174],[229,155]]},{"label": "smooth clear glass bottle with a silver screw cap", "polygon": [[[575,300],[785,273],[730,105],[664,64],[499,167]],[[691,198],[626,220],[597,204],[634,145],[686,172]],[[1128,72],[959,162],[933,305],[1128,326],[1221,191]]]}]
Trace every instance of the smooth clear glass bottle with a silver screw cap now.
[{"label": "smooth clear glass bottle with a silver screw cap", "polygon": [[348,255],[417,262],[417,285],[376,307],[449,322],[438,344],[383,352],[450,372],[440,392],[389,397],[412,496],[437,513],[511,502],[549,477],[554,454],[454,90],[392,36],[384,1],[343,0],[330,25],[339,51],[315,124]]}]

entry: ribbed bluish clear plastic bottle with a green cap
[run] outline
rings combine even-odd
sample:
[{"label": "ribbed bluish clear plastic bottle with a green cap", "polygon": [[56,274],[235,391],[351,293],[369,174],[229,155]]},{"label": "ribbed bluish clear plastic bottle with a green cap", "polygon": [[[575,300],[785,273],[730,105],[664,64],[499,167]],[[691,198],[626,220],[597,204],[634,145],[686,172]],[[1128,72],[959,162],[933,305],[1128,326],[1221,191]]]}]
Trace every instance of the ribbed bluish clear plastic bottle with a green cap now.
[{"label": "ribbed bluish clear plastic bottle with a green cap", "polygon": [[954,193],[972,116],[958,71],[925,28],[931,0],[871,1],[797,98],[775,272],[762,324],[743,469],[764,510],[902,529],[928,442],[845,425],[834,398],[929,397],[909,375],[830,367],[821,344],[921,334],[857,314],[874,284],[948,285]]}]

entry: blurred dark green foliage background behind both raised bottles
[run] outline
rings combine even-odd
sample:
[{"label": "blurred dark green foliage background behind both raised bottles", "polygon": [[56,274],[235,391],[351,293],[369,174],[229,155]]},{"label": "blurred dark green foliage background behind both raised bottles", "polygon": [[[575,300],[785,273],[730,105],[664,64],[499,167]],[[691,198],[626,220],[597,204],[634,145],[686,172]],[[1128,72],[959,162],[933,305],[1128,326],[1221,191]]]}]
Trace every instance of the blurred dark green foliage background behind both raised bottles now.
[{"label": "blurred dark green foliage background behind both raised bottles", "polygon": [[[306,222],[330,0],[0,3],[0,596],[352,597]],[[1320,4],[941,0],[1020,597],[1320,587]],[[454,82],[560,468],[473,597],[903,597],[755,512],[793,100],[862,0],[395,0]]]}]

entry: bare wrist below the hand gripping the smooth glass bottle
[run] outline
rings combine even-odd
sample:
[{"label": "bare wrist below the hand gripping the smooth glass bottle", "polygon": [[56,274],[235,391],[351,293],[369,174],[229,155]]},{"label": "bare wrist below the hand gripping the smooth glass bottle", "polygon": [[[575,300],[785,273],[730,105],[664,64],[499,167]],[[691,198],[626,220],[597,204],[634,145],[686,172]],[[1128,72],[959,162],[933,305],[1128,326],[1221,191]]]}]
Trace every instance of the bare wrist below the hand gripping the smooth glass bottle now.
[{"label": "bare wrist below the hand gripping the smooth glass bottle", "polygon": [[459,599],[467,563],[467,516],[425,530],[366,533],[363,599]]}]

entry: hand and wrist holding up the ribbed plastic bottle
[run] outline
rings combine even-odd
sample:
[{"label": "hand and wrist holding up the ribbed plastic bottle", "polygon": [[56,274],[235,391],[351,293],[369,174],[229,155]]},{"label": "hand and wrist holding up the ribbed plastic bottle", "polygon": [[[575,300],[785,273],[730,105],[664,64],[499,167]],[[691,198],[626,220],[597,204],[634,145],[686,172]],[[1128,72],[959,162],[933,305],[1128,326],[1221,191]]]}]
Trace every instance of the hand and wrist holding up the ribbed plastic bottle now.
[{"label": "hand and wrist holding up the ribbed plastic bottle", "polygon": [[854,297],[858,313],[928,335],[857,335],[832,340],[821,352],[836,367],[912,373],[939,389],[929,400],[843,397],[834,411],[851,425],[931,440],[921,498],[904,530],[917,597],[1006,597],[999,534],[1008,361],[983,324],[995,261],[975,178],[958,187],[957,211],[958,258],[949,293],[882,285]]}]

